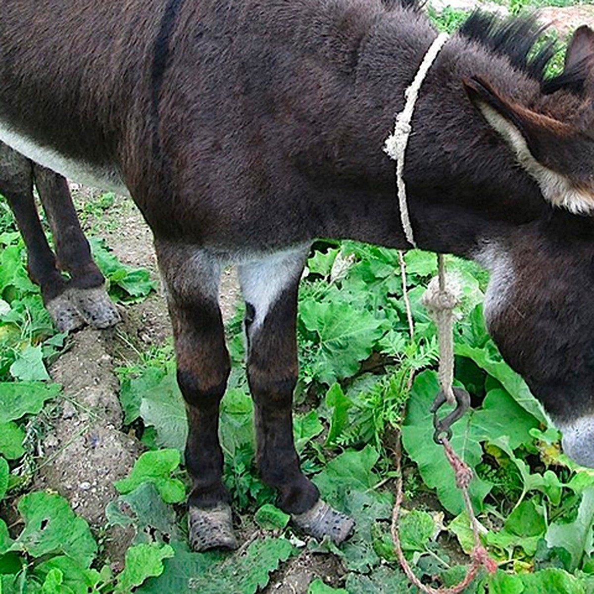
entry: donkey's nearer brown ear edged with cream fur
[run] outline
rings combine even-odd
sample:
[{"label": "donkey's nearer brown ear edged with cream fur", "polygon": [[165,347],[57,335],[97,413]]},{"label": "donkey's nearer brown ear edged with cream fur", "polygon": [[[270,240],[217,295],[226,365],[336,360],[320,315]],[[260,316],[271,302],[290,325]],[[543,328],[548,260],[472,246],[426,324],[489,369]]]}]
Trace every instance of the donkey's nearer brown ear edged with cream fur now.
[{"label": "donkey's nearer brown ear edged with cream fur", "polygon": [[594,211],[594,138],[507,99],[481,78],[463,84],[470,101],[516,153],[546,200],[574,213]]}]

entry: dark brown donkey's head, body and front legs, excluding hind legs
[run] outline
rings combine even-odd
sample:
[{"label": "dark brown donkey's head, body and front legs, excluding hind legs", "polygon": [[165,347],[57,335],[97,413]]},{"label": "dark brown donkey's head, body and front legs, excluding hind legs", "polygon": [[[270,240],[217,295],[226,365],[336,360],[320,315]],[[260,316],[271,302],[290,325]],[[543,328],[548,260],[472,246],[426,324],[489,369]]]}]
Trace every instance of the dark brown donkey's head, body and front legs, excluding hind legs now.
[{"label": "dark brown donkey's head, body and front legs, excluding hind legs", "polygon": [[[337,542],[293,447],[295,309],[317,237],[406,248],[382,148],[436,32],[380,0],[0,0],[0,140],[128,191],[154,233],[187,402],[197,549],[234,546],[217,303],[239,263],[261,476]],[[563,74],[529,20],[474,15],[429,69],[405,178],[420,247],[492,270],[485,310],[510,364],[594,465],[594,33]]]}]

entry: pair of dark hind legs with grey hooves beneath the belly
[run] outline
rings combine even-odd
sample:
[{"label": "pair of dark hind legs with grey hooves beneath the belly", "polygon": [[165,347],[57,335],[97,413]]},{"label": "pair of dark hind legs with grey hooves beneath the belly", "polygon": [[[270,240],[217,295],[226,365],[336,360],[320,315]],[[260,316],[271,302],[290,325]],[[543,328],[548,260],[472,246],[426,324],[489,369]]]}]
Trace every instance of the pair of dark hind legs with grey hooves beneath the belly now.
[{"label": "pair of dark hind legs with grey hooves beneath the belly", "polygon": [[[37,216],[33,183],[52,228],[58,260]],[[17,220],[27,247],[29,275],[40,286],[43,302],[58,330],[76,330],[85,324],[108,328],[118,323],[118,310],[91,257],[67,181],[0,143],[0,194],[7,198]],[[62,276],[60,269],[67,270],[70,278]]]}]

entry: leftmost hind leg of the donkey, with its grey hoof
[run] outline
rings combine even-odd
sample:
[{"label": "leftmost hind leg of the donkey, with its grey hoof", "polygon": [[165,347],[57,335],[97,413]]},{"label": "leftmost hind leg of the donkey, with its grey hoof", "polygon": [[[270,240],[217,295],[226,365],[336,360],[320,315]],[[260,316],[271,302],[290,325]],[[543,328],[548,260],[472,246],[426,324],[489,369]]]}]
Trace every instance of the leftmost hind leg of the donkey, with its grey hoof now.
[{"label": "leftmost hind leg of the donkey, with its grey hoof", "polygon": [[0,143],[0,194],[8,200],[27,247],[27,268],[40,286],[43,302],[58,330],[75,330],[84,320],[67,297],[67,280],[56,267],[33,198],[33,165],[29,159]]}]

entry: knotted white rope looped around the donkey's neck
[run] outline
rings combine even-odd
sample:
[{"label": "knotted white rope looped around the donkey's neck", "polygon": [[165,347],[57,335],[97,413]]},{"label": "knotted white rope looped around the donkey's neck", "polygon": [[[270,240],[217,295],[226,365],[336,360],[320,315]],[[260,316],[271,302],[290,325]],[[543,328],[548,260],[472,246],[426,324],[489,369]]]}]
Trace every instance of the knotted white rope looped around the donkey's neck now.
[{"label": "knotted white rope looped around the donkey's neck", "polygon": [[429,68],[431,68],[441,48],[443,48],[445,42],[449,39],[447,33],[440,33],[431,44],[431,47],[427,50],[421,66],[419,66],[416,72],[415,78],[410,83],[410,86],[405,91],[405,108],[396,115],[396,124],[394,125],[394,134],[390,134],[386,138],[384,144],[384,152],[396,161],[396,192],[398,195],[398,201],[400,204],[400,221],[402,222],[402,228],[404,229],[405,236],[409,244],[416,248],[415,235],[412,231],[412,225],[410,225],[410,218],[408,213],[408,203],[406,200],[406,184],[404,179],[405,170],[405,153],[406,146],[412,128],[410,127],[410,121],[412,120],[413,113],[415,112],[416,100],[419,96],[419,90],[425,80]]}]

